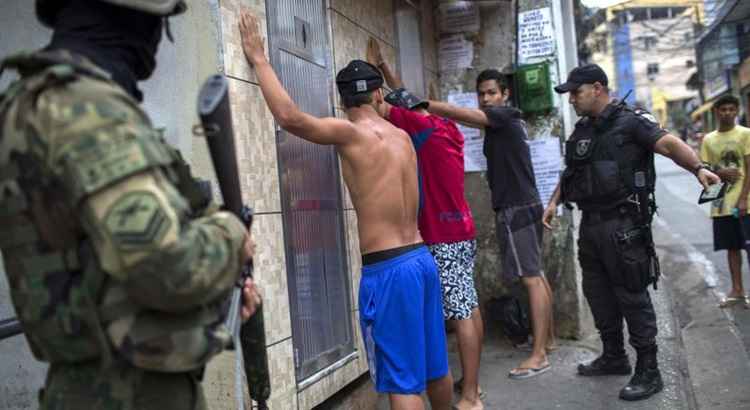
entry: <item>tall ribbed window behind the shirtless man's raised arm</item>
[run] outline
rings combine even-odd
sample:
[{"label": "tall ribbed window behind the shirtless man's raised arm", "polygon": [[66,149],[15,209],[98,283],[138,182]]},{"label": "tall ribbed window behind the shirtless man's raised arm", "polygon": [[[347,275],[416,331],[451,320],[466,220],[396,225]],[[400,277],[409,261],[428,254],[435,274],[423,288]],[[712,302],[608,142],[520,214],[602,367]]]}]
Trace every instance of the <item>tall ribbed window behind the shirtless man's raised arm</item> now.
[{"label": "tall ribbed window behind the shirtless man's raised arm", "polygon": [[[269,4],[270,54],[279,79],[301,110],[318,117],[331,115],[323,0]],[[330,146],[280,130],[277,151],[299,382],[354,351],[341,178]]]}]

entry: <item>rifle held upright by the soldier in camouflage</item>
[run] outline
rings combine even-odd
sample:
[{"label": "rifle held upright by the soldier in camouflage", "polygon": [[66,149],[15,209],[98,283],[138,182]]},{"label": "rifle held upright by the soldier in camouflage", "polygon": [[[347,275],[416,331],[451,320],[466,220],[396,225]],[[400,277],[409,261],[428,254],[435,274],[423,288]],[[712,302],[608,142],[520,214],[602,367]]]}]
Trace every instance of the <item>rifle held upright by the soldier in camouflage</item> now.
[{"label": "rifle held upright by the soldier in camouflage", "polygon": [[[201,87],[198,95],[198,115],[201,119],[203,133],[206,136],[211,161],[219,181],[224,209],[240,218],[248,229],[252,224],[252,210],[242,203],[237,157],[232,128],[232,112],[229,106],[229,84],[223,75],[209,77]],[[242,286],[245,278],[253,276],[252,261],[242,271],[232,290],[229,311],[225,324],[232,332],[233,348],[236,351],[235,393],[238,406],[244,409],[242,379],[240,369],[244,368],[247,377],[250,397],[258,403],[258,409],[267,409],[266,401],[271,395],[271,382],[268,373],[268,356],[266,352],[266,333],[263,324],[263,305],[255,314],[242,324],[240,309],[242,306]],[[239,346],[239,348],[238,348]]]}]

